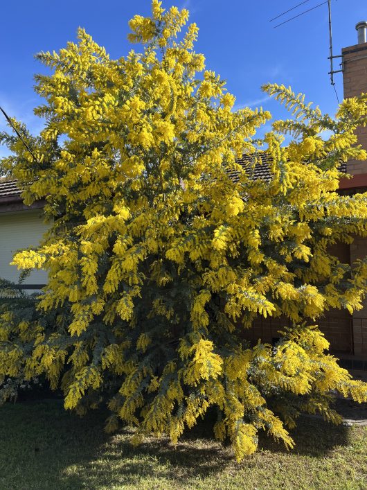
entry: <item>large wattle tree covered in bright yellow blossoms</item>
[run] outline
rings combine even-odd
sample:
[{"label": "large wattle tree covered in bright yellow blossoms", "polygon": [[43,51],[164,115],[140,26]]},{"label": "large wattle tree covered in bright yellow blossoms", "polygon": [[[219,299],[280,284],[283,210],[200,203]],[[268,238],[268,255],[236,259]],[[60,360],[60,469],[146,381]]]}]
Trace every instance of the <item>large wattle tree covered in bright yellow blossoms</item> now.
[{"label": "large wattle tree covered in bright yellow blossoms", "polygon": [[[45,376],[65,408],[107,403],[107,430],[122,421],[136,437],[177,441],[210,410],[240,460],[258,430],[292,446],[302,412],[337,422],[330,390],[367,399],[316,326],[330,308],[361,308],[366,291],[367,262],[330,253],[367,236],[367,195],[336,192],[341,162],[367,157],[354,134],[366,96],[331,119],[266,85],[294,117],[256,139],[271,115],[233,110],[194,51],[197,26],[181,33],[187,20],[154,0],[152,17],[129,22],[141,53],[112,60],[80,29],[78,44],[37,56],[51,69],[36,77],[44,130],[13,121],[31,153],[4,133],[2,166],[26,204],[46,202],[48,233],[14,263],[46,270],[48,284],[32,308],[2,307],[0,383]],[[251,180],[236,158],[262,151],[271,179]],[[292,327],[251,346],[251,322],[269,315]]]}]

